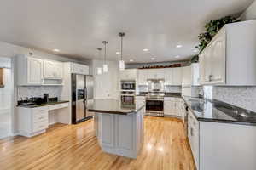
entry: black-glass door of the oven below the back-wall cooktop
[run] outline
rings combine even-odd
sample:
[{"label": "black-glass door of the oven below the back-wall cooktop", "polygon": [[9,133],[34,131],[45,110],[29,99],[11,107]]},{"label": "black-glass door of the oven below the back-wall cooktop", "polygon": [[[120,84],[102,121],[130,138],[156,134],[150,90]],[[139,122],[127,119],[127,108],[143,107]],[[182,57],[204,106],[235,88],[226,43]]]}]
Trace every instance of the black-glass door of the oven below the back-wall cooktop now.
[{"label": "black-glass door of the oven below the back-wall cooktop", "polygon": [[163,99],[146,99],[146,111],[148,113],[164,113],[164,100]]}]

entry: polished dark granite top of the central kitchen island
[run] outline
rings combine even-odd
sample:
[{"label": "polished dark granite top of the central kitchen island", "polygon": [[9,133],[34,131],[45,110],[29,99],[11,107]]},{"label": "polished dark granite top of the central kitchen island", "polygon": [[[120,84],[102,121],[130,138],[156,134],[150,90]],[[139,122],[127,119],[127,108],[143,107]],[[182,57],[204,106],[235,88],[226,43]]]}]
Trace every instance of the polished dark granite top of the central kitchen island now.
[{"label": "polished dark granite top of the central kitchen island", "polygon": [[116,99],[94,99],[93,102],[88,105],[88,111],[118,114],[118,115],[130,115],[143,109],[145,105],[136,103],[136,105],[121,105],[121,102]]}]

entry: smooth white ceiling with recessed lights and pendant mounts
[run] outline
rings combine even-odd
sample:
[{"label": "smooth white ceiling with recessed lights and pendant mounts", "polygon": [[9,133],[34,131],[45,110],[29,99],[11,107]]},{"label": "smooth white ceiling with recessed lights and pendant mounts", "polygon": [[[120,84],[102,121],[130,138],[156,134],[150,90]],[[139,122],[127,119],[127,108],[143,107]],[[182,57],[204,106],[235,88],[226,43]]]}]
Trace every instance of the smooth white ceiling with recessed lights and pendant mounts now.
[{"label": "smooth white ceiling with recessed lights and pendant mounts", "polygon": [[[108,59],[188,59],[208,20],[241,13],[253,0],[7,0],[0,6],[0,40],[75,58],[96,59],[108,43]],[[181,43],[183,48],[176,48]],[[148,48],[148,52],[143,52]]]}]

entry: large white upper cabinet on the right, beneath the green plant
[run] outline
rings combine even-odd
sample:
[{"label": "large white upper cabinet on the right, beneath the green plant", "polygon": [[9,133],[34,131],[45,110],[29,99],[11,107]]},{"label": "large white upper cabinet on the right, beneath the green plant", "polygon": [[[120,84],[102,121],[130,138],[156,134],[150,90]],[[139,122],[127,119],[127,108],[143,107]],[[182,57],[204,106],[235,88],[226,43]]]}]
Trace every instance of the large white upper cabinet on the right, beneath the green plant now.
[{"label": "large white upper cabinet on the right, beneath the green plant", "polygon": [[225,25],[200,56],[200,83],[256,85],[256,20]]}]

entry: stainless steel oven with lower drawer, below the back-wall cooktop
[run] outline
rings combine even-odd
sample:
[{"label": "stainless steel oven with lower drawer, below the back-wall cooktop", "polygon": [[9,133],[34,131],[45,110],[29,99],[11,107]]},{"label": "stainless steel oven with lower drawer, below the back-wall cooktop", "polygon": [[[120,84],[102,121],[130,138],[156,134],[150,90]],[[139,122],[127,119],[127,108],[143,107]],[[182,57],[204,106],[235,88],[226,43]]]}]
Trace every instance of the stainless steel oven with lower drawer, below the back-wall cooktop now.
[{"label": "stainless steel oven with lower drawer, below the back-wall cooktop", "polygon": [[146,114],[148,116],[164,116],[164,99],[146,99]]}]

